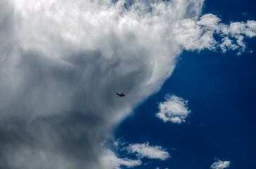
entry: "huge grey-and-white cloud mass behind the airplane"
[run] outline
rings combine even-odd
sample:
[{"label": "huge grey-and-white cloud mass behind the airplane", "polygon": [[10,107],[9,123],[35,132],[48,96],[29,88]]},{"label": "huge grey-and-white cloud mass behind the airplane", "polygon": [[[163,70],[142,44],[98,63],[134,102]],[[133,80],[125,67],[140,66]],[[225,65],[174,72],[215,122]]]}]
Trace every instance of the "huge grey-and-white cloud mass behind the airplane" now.
[{"label": "huge grey-and-white cloud mass behind the airplane", "polygon": [[0,168],[111,168],[100,142],[171,75],[203,4],[127,2],[0,1]]}]

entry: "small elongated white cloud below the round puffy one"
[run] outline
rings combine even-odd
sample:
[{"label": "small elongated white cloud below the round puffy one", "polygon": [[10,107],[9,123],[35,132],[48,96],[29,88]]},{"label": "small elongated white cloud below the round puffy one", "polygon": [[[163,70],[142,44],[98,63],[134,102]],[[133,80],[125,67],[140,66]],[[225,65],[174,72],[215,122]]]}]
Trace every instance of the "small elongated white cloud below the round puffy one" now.
[{"label": "small elongated white cloud below the round puffy one", "polygon": [[148,142],[144,144],[129,144],[126,147],[129,153],[137,154],[141,158],[152,158],[166,160],[170,158],[169,153],[162,146],[150,146]]}]

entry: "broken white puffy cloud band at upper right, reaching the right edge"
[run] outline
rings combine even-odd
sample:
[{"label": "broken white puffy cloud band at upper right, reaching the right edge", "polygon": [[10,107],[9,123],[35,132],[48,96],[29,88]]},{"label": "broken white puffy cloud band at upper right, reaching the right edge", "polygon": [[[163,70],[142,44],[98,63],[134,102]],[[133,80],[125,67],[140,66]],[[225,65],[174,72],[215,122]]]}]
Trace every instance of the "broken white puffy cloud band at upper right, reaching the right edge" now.
[{"label": "broken white puffy cloud band at upper right, reaching the right edge", "polygon": [[228,25],[221,23],[217,15],[209,13],[202,15],[199,20],[186,18],[179,21],[173,32],[175,39],[186,50],[238,50],[238,54],[241,54],[246,49],[244,39],[256,36],[256,22],[248,20],[246,23],[231,22]]}]

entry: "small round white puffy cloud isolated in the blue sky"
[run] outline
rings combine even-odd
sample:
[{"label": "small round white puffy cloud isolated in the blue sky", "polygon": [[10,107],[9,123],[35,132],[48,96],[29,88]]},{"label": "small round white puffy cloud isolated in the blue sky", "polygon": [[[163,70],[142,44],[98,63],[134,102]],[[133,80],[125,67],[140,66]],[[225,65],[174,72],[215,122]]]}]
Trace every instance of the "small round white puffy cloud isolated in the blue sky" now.
[{"label": "small round white puffy cloud isolated in the blue sky", "polygon": [[188,101],[175,95],[167,95],[164,102],[159,104],[159,113],[157,117],[161,120],[171,121],[172,123],[181,124],[185,122],[190,110],[188,110]]}]

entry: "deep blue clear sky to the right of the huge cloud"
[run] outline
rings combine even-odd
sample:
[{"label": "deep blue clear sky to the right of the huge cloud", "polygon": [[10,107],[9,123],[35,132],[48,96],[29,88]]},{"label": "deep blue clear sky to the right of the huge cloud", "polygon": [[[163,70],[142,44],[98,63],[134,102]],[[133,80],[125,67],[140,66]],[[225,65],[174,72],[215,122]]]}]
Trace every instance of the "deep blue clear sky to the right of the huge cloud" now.
[{"label": "deep blue clear sky to the right of the huge cloud", "polygon": [[[256,1],[208,0],[202,15],[217,14],[230,23],[255,20],[255,9]],[[256,51],[256,39],[246,42]],[[143,159],[151,162],[136,168],[209,168],[214,157],[231,161],[232,169],[255,168],[255,65],[256,52],[184,51],[161,90],[118,126],[116,139],[169,148],[167,161]],[[154,116],[165,94],[188,99],[192,113],[186,123],[164,123]]]}]

